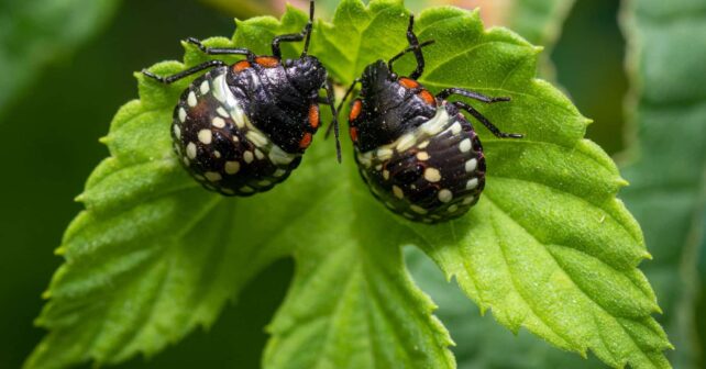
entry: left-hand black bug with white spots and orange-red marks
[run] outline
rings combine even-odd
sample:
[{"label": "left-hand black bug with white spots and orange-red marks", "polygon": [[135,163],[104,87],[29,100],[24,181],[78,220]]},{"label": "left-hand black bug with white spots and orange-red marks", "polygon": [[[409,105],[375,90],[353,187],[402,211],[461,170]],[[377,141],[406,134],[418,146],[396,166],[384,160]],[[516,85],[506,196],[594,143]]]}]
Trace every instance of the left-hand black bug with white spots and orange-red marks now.
[{"label": "left-hand black bug with white spots and orange-red marks", "polygon": [[[300,33],[276,36],[271,56],[246,48],[212,48],[187,42],[208,55],[244,55],[233,65],[209,60],[168,77],[143,74],[163,83],[209,69],[181,93],[174,109],[174,149],[187,170],[207,189],[251,195],[272,189],[299,166],[319,121],[319,103],[329,104],[338,132],[331,81],[315,56],[307,55],[313,24]],[[298,59],[282,62],[279,43],[305,41]],[[324,88],[326,99],[319,97]],[[337,149],[340,146],[337,133]]]}]

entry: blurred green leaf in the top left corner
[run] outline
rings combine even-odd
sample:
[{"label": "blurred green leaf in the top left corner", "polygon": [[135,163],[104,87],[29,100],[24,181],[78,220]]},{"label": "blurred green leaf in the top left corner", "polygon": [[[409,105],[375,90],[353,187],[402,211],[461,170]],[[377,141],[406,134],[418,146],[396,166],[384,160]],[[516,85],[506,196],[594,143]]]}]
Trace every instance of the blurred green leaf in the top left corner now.
[{"label": "blurred green leaf in the top left corner", "polygon": [[0,3],[0,115],[41,76],[107,23],[118,0],[9,0]]}]

